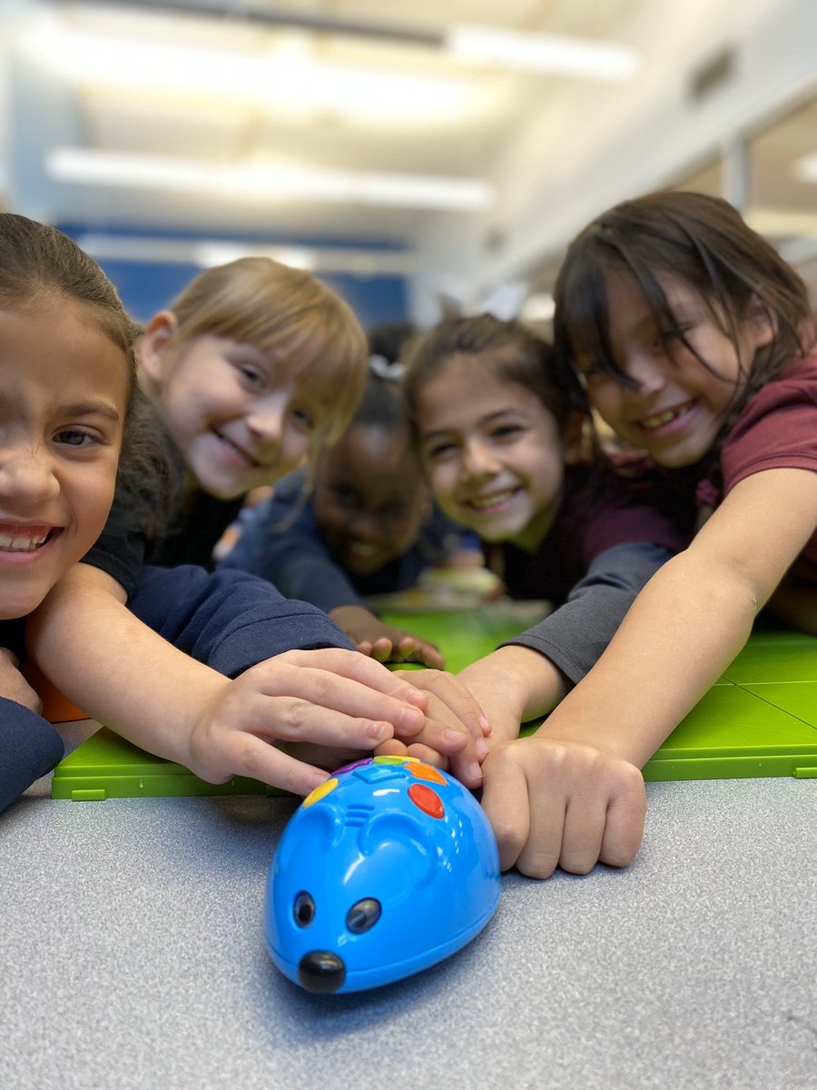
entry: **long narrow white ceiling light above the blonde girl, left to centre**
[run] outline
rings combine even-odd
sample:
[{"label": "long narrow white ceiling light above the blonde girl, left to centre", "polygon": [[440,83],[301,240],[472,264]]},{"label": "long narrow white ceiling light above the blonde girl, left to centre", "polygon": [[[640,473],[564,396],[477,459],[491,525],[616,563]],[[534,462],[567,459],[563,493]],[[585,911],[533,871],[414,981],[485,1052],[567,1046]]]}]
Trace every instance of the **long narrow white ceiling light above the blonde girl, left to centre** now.
[{"label": "long narrow white ceiling light above the blonde girl, left to centre", "polygon": [[45,157],[45,169],[63,182],[211,193],[261,202],[479,211],[489,207],[493,197],[487,182],[472,178],[310,170],[275,162],[222,165],[81,147],[52,148]]}]

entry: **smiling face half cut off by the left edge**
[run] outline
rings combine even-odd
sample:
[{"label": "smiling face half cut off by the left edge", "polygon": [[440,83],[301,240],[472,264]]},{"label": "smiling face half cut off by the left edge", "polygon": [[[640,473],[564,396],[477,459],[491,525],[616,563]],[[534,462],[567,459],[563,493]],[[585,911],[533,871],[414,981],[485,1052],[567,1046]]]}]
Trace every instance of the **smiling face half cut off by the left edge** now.
[{"label": "smiling face half cut off by the left edge", "polygon": [[101,533],[129,382],[83,305],[0,310],[0,618],[27,616]]}]

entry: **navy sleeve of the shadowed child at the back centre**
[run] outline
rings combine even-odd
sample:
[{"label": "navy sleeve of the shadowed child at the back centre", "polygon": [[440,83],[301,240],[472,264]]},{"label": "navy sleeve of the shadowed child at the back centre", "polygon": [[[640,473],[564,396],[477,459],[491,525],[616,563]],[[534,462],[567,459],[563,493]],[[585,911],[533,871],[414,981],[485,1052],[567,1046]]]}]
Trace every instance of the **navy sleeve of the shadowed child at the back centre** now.
[{"label": "navy sleeve of the shadowed child at the back centre", "polygon": [[278,488],[245,512],[241,535],[220,567],[249,571],[285,597],[310,602],[326,613],[365,605],[320,540],[312,505],[301,489]]}]

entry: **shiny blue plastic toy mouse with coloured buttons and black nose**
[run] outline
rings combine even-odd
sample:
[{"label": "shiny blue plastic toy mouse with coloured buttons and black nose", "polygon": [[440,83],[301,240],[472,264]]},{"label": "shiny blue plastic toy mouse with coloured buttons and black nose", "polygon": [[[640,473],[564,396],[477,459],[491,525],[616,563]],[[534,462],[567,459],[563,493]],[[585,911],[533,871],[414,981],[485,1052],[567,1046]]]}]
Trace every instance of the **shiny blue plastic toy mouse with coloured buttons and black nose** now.
[{"label": "shiny blue plastic toy mouse with coloured buttons and black nose", "polygon": [[284,829],[267,879],[267,948],[308,991],[375,988],[464,946],[499,893],[497,844],[470,791],[413,758],[361,761]]}]

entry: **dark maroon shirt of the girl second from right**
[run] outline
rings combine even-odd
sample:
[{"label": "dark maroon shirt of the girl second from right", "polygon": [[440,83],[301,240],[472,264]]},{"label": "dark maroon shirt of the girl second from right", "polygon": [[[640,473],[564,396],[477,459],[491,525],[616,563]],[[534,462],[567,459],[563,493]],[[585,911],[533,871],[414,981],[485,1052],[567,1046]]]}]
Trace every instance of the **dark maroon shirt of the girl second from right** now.
[{"label": "dark maroon shirt of the girl second from right", "polygon": [[545,598],[554,606],[614,545],[644,542],[680,553],[692,540],[695,504],[669,488],[663,474],[644,468],[620,476],[611,470],[571,465],[564,498],[536,553],[508,542],[485,544],[486,561],[513,598]]}]

